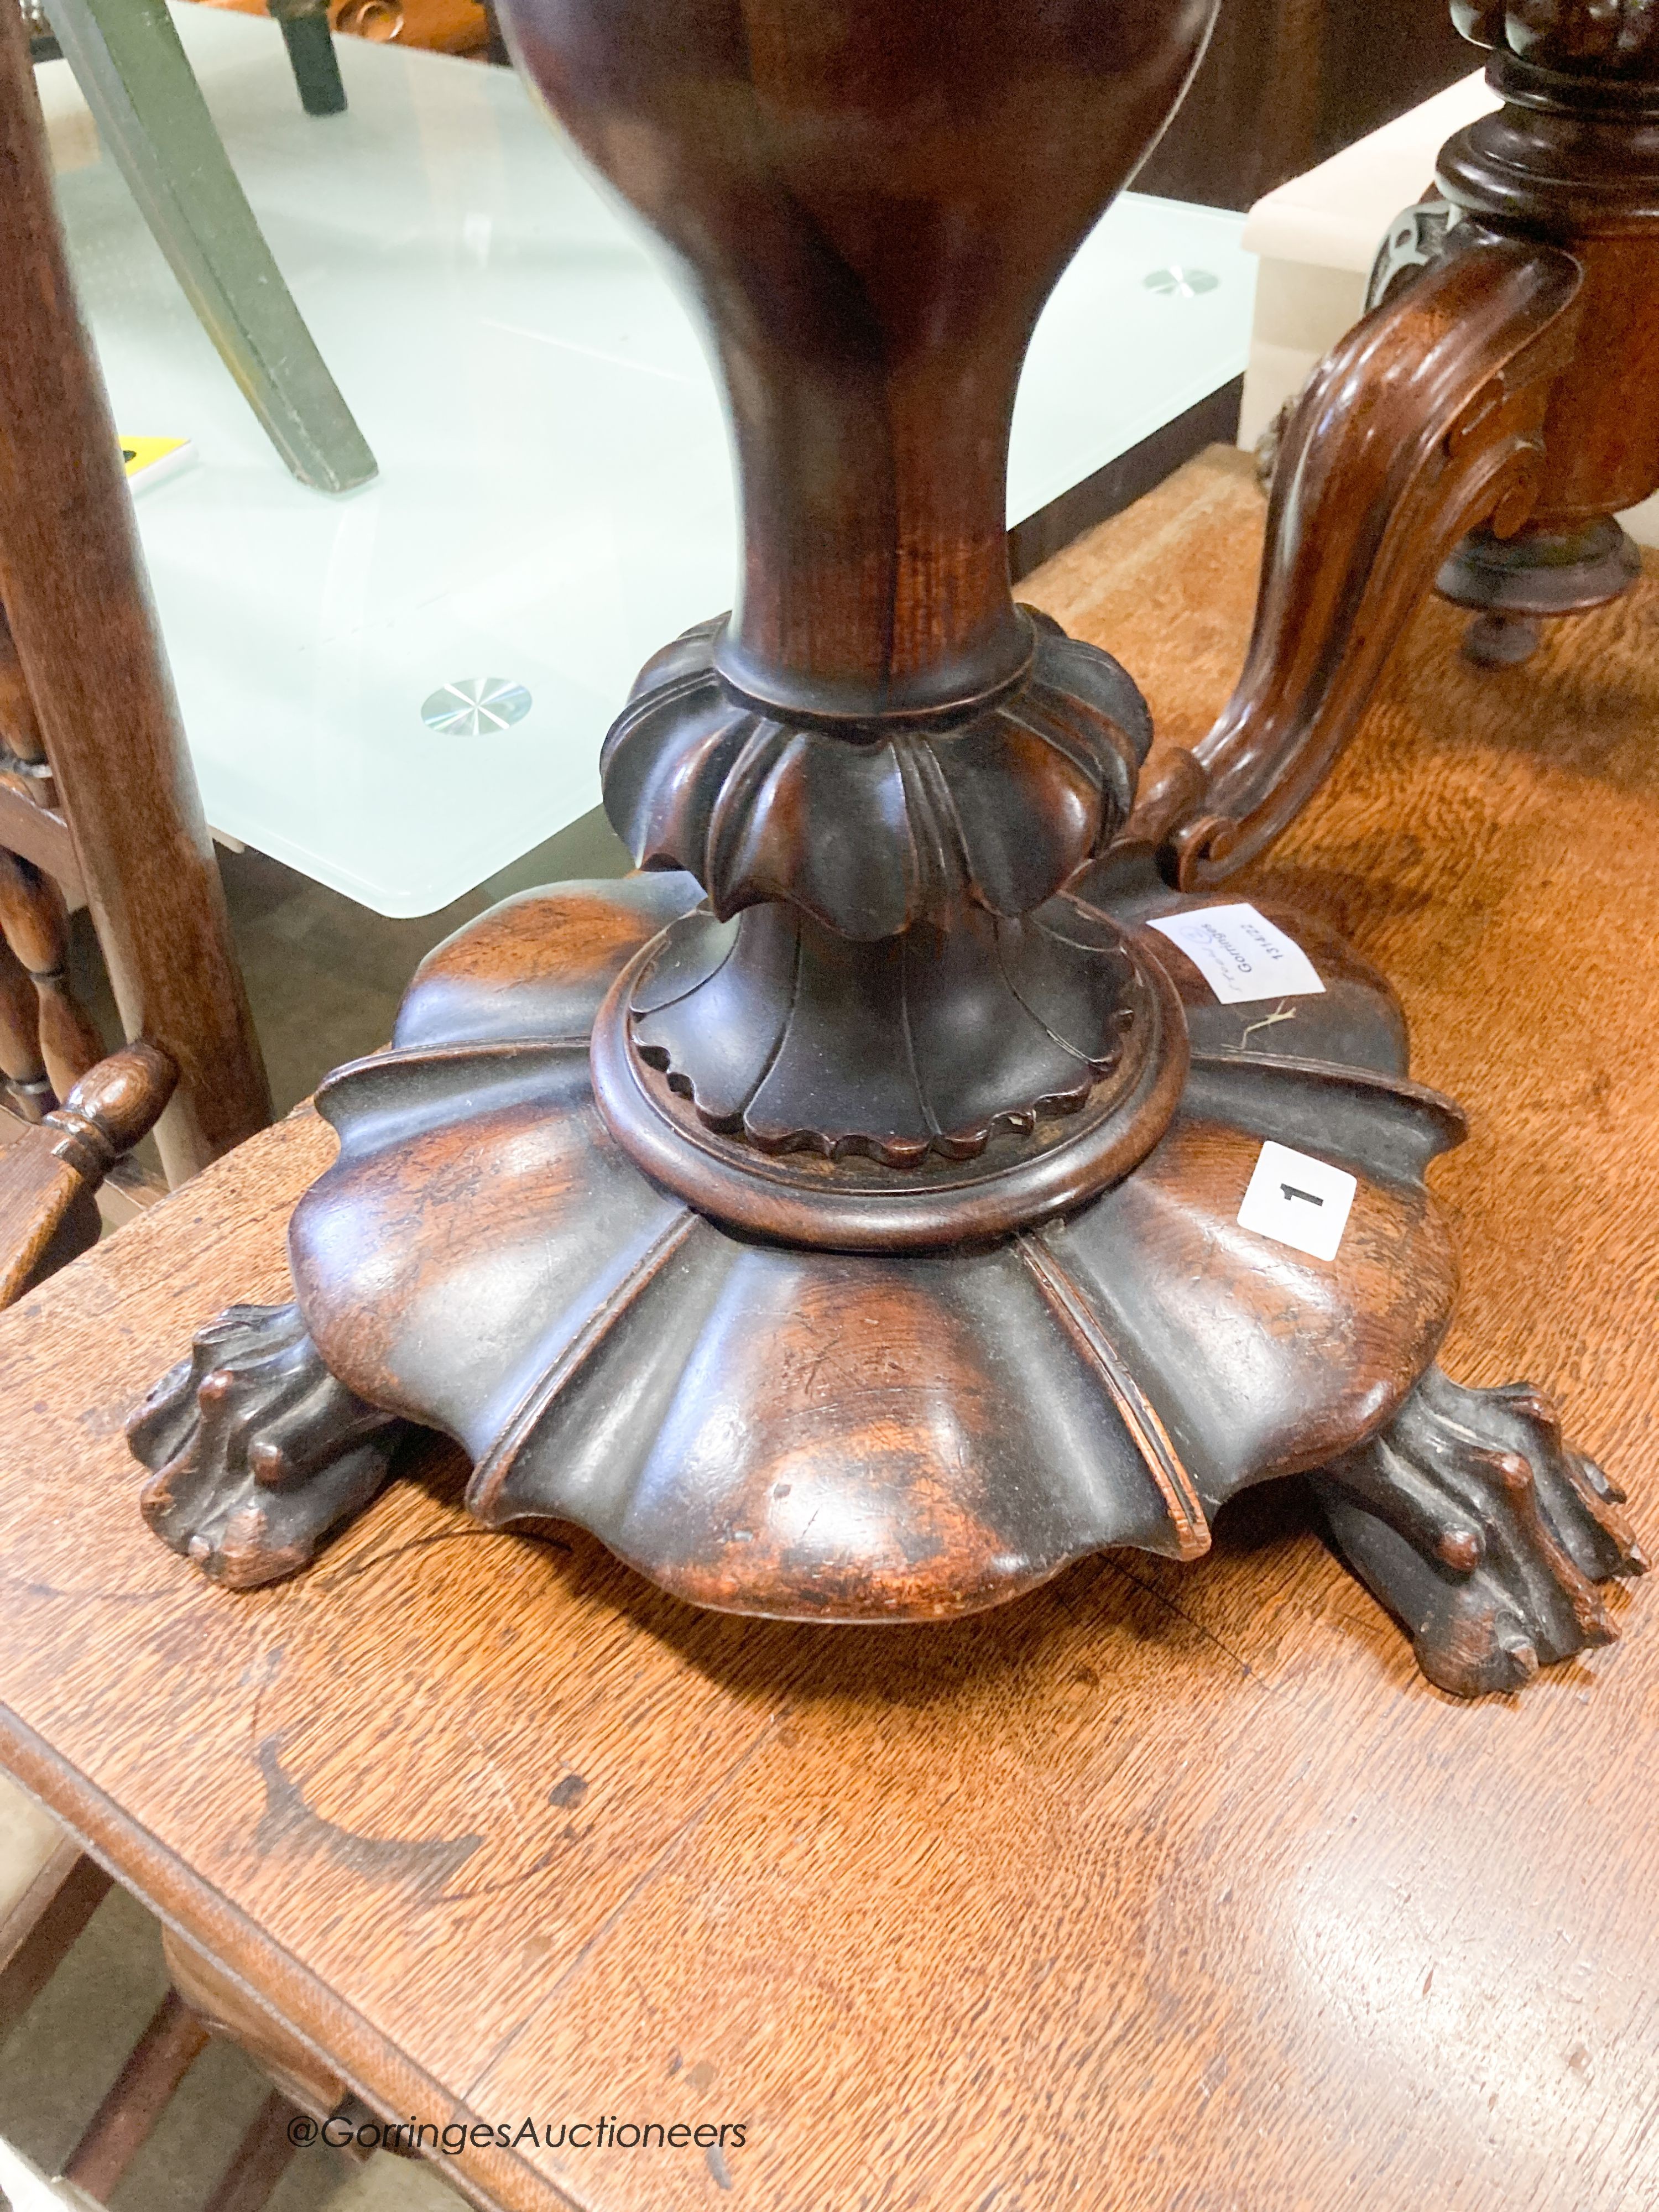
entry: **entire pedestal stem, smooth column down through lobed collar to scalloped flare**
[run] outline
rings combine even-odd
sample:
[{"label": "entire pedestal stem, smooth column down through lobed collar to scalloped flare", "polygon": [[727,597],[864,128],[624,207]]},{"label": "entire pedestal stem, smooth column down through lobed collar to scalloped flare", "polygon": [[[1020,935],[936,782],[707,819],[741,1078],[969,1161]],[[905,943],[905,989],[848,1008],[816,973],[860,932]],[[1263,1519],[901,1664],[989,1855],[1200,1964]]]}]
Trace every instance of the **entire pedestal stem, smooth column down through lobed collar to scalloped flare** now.
[{"label": "entire pedestal stem, smooth column down through lobed collar to scalloped flare", "polygon": [[[1042,922],[1009,942],[1110,841],[1146,750],[1115,664],[1013,604],[1009,422],[1037,312],[1210,13],[504,11],[520,66],[672,248],[734,425],[737,606],[644,672],[604,761],[637,860],[741,916],[688,922],[617,1013],[710,1130],[960,1159],[1079,1108],[1117,1060],[1113,947]],[[971,1066],[929,1042],[949,1035]]]}]

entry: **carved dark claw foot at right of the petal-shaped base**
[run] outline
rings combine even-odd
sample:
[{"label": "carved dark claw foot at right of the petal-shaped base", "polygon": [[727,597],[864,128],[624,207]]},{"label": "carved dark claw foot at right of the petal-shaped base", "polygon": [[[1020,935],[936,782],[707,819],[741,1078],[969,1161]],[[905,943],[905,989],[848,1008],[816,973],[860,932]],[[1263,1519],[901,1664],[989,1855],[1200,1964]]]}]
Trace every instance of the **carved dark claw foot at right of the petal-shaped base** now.
[{"label": "carved dark claw foot at right of the petal-shaped base", "polygon": [[1312,1482],[1336,1548],[1455,1697],[1520,1690],[1615,1641],[1595,1584],[1648,1564],[1624,1493],[1524,1383],[1464,1389],[1431,1367],[1387,1429]]}]

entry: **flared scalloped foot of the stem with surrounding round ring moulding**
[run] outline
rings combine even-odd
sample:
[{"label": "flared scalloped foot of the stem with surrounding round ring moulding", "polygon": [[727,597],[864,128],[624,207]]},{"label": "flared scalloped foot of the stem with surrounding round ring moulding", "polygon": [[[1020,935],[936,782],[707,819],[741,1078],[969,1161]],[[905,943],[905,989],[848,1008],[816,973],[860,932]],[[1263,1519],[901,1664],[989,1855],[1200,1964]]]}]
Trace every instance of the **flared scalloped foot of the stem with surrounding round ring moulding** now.
[{"label": "flared scalloped foot of the stem with surrounding round ring moulding", "polygon": [[[907,933],[887,962],[854,971],[854,993],[834,940],[783,907],[737,929],[688,916],[666,947],[635,956],[597,1011],[593,1084],[613,1133],[714,1219],[841,1252],[1004,1234],[1079,1206],[1150,1152],[1188,1068],[1179,991],[1150,949],[1064,898],[1006,931],[969,907],[960,940],[973,964],[916,936],[920,949]],[[759,960],[796,973],[759,1037],[743,1024],[752,938]],[[681,1073],[699,1064],[699,1024],[719,1046],[710,1088]],[[823,1066],[825,1037],[838,1068]],[[1022,1066],[1013,1110],[1004,1042]],[[838,1082],[841,1068],[863,1084]],[[995,1141],[1006,1137],[1033,1141]],[[858,1172],[860,1159],[874,1170]]]}]

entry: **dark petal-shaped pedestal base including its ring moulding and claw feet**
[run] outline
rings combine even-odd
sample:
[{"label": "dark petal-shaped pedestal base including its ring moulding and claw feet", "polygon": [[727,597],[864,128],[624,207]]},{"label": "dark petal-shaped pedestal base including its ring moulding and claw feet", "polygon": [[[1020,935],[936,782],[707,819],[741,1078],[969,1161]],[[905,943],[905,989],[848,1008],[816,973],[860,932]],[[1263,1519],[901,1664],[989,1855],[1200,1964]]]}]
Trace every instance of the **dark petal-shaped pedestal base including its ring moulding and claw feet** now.
[{"label": "dark petal-shaped pedestal base including its ring moulding and claw feet", "polygon": [[[1323,925],[1263,909],[1321,995],[1219,1004],[1146,927],[1206,900],[1091,869],[1068,927],[1148,978],[1179,1071],[1141,1157],[978,1245],[845,1252],[692,1210],[595,1108],[615,978],[697,902],[679,874],[509,900],[422,967],[389,1055],[327,1079],[341,1157],[294,1217],[299,1305],[232,1307],[133,1422],[170,1546],[237,1588],[288,1575],[420,1422],[473,1458],[489,1526],[580,1522],[695,1604],[945,1619],[1106,1546],[1194,1557],[1234,1491],[1314,1469],[1442,1688],[1613,1635],[1595,1582],[1641,1566],[1617,1493],[1535,1394],[1431,1365],[1455,1270],[1422,1170],[1462,1119]],[[1018,1168],[1037,1139],[998,1144]],[[1263,1139],[1358,1177],[1336,1261],[1239,1225]],[[914,1170],[858,1168],[927,1212]]]}]

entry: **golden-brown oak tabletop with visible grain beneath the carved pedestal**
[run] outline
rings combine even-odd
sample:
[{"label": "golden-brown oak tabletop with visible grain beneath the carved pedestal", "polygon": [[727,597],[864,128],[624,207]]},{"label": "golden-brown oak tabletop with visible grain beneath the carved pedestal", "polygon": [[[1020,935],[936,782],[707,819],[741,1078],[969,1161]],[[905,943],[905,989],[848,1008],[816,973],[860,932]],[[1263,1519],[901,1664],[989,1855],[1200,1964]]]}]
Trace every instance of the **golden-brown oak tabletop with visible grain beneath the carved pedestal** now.
[{"label": "golden-brown oak tabletop with visible grain beneath the carved pedestal", "polygon": [[[1261,498],[1188,467],[1033,597],[1192,743]],[[1453,1376],[1659,1522],[1659,588],[1517,670],[1429,606],[1239,896],[1349,931],[1473,1137]],[[489,1535],[434,1449],[294,1584],[142,1526],[126,1402],[285,1294],[292,1119],[0,1318],[4,1763],[372,2104],[739,2146],[467,2148],[540,2212],[1630,2212],[1659,2201],[1659,1628],[1473,1705],[1296,1502],[951,1626],[785,1628]],[[763,1327],[763,1318],[757,1327]]]}]

